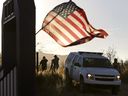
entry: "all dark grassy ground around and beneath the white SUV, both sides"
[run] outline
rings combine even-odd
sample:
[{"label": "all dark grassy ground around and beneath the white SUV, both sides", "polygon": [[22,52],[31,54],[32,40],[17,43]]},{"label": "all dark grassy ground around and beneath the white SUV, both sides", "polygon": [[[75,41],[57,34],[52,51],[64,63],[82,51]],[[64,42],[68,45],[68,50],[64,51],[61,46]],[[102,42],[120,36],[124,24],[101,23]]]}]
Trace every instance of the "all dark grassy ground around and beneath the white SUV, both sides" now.
[{"label": "all dark grassy ground around and beneath the white SUV, both sides", "polygon": [[[128,71],[121,75],[122,85],[118,96],[127,96]],[[36,75],[36,96],[112,96],[109,90],[94,89],[85,95],[80,93],[79,86],[68,87],[64,80],[64,67],[60,67],[58,72],[45,71]]]}]

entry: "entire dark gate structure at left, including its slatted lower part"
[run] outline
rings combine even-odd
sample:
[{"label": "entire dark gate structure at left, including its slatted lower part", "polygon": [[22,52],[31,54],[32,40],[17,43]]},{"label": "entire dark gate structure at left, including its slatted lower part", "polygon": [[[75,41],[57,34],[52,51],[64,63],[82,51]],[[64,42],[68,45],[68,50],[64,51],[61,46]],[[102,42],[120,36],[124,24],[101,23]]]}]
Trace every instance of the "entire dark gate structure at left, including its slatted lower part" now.
[{"label": "entire dark gate structure at left, including its slatted lower part", "polygon": [[2,15],[0,95],[35,95],[34,0],[6,0]]}]

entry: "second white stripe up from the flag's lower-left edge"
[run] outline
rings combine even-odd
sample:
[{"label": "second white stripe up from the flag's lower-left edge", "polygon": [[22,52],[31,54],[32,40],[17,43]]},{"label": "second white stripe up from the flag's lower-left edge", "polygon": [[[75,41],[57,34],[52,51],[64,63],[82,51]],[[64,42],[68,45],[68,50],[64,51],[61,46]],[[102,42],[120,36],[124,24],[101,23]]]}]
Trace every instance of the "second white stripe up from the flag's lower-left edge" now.
[{"label": "second white stripe up from the flag's lower-left edge", "polygon": [[[48,16],[49,18],[52,18],[51,16]],[[48,18],[46,18],[46,21]],[[49,19],[50,20],[50,19]],[[76,39],[67,31],[65,28],[63,28],[61,25],[59,25],[55,20],[52,21],[50,24],[55,25],[59,30],[61,30],[72,42],[76,41]]]}]

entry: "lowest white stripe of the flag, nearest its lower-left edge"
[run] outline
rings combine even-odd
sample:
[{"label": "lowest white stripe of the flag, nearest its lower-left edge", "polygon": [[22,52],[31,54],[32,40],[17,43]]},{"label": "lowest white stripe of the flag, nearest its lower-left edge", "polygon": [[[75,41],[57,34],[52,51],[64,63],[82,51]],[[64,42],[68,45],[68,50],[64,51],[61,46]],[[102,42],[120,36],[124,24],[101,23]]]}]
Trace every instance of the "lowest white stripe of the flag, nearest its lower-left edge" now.
[{"label": "lowest white stripe of the flag, nearest its lower-left edge", "polygon": [[56,32],[56,30],[54,30],[51,27],[51,24],[49,26],[46,26],[45,28],[46,28],[46,30],[49,30],[52,34],[54,34],[57,38],[59,38],[59,40],[61,42],[63,42],[64,45],[69,45],[69,42],[67,42],[67,40],[65,40],[65,38],[62,35],[60,35],[58,32]]}]

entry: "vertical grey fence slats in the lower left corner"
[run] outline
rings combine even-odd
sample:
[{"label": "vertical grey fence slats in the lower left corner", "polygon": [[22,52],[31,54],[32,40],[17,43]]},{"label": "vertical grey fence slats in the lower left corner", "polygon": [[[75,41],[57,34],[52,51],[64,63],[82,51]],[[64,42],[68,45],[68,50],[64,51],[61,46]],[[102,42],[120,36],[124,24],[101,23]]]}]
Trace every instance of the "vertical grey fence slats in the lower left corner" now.
[{"label": "vertical grey fence slats in the lower left corner", "polygon": [[16,66],[7,74],[0,70],[0,96],[16,96]]}]

